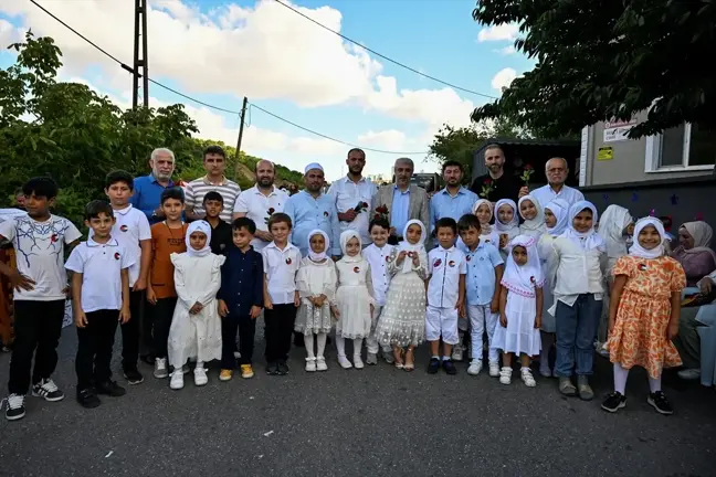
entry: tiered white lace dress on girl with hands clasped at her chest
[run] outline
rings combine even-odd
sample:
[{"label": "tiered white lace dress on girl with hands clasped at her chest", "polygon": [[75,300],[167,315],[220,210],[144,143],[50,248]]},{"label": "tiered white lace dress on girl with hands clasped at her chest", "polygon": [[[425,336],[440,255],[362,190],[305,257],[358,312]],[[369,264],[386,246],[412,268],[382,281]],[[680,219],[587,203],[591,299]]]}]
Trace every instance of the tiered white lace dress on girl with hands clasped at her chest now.
[{"label": "tiered white lace dress on girl with hands clasped at her chest", "polygon": [[[425,340],[425,264],[428,256],[420,252],[420,265],[403,273],[397,265],[399,251],[390,254],[388,273],[392,275],[386,306],[376,326],[376,339],[381,346],[404,348],[418,346]],[[406,257],[406,259],[412,259]]]}]

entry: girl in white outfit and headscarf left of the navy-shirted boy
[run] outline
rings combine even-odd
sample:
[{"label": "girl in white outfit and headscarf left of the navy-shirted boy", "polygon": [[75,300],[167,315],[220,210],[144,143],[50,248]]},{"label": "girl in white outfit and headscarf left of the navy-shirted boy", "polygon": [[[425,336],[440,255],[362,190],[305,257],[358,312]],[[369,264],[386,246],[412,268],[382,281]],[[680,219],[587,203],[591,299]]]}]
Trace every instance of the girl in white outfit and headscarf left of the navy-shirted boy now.
[{"label": "girl in white outfit and headscarf left of the navy-shirted boy", "polygon": [[172,253],[175,288],[179,300],[175,308],[167,351],[171,373],[170,388],[183,388],[182,367],[196,358],[194,384],[209,381],[203,363],[221,359],[221,319],[217,293],[221,286],[221,265],[227,257],[211,253],[211,225],[192,222],[187,230],[187,252]]}]

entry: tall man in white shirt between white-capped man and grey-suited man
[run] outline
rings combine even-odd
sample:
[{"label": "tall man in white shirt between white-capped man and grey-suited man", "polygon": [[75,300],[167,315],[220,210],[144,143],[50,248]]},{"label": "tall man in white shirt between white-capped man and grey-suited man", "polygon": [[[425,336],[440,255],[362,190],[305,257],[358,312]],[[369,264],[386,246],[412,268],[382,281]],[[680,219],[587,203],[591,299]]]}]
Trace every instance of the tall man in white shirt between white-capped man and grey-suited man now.
[{"label": "tall man in white shirt between white-capped man and grey-suited man", "polygon": [[348,174],[338,179],[328,189],[338,210],[340,221],[340,233],[346,230],[355,230],[360,234],[364,248],[372,242],[368,233],[370,222],[371,201],[376,193],[376,184],[362,177],[366,167],[366,152],[354,148],[348,151],[346,159]]}]

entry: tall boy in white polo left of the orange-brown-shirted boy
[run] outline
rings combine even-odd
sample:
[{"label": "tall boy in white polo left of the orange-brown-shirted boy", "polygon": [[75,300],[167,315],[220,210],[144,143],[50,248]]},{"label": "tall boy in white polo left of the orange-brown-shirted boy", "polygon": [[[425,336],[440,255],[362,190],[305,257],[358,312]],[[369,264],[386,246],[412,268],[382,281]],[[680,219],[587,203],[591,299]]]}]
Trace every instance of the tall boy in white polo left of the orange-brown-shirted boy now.
[{"label": "tall boy in white polo left of the orange-brown-shirted boy", "polygon": [[[105,194],[114,212],[115,223],[112,226],[112,239],[119,242],[133,257],[129,267],[129,310],[131,319],[122,324],[122,369],[129,384],[139,384],[144,377],[137,368],[139,359],[139,337],[144,335],[145,352],[151,350],[149,333],[141,332],[141,318],[145,290],[147,289],[147,274],[151,262],[151,229],[147,215],[129,203],[134,194],[134,178],[129,172],[122,170],[112,171],[105,180]],[[90,231],[93,236],[94,227]],[[148,324],[147,324],[148,325]],[[145,359],[147,359],[145,357]]]}]

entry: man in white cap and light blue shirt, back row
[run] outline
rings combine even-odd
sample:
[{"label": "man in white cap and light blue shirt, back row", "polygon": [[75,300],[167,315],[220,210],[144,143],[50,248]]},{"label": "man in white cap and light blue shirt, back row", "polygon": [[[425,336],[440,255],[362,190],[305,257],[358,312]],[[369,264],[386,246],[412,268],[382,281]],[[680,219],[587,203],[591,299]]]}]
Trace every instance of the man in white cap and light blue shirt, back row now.
[{"label": "man in white cap and light blue shirt, back row", "polygon": [[306,166],[304,171],[305,190],[291,195],[286,201],[284,213],[291,218],[293,231],[292,243],[301,250],[301,255],[308,255],[308,234],[320,229],[330,237],[330,255],[340,255],[340,225],[336,203],[324,194],[324,170],[317,162]]}]

